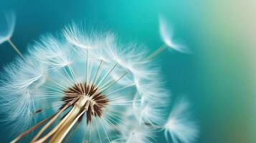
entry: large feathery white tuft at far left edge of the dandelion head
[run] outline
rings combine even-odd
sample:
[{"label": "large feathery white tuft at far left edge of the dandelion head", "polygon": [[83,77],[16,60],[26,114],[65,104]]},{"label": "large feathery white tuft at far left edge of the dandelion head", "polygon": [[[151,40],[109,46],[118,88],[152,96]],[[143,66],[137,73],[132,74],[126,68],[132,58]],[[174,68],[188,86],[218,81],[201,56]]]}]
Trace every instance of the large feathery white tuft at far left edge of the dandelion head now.
[{"label": "large feathery white tuft at far left edge of the dandelion head", "polygon": [[6,114],[4,122],[12,122],[9,127],[17,130],[28,127],[34,119],[34,92],[45,80],[44,65],[33,56],[27,62],[16,59],[4,67],[1,77],[1,112]]}]

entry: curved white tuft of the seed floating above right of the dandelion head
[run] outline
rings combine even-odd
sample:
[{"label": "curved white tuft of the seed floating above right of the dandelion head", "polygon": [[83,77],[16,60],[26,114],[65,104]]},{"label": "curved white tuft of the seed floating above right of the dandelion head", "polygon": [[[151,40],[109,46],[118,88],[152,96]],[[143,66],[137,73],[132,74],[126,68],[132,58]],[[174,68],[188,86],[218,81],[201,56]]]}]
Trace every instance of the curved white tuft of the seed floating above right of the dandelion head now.
[{"label": "curved white tuft of the seed floating above right of the dandelion head", "polygon": [[174,41],[174,30],[171,28],[170,24],[167,24],[166,19],[162,16],[159,17],[159,33],[163,42],[171,49],[182,53],[191,53],[190,49],[186,46]]}]

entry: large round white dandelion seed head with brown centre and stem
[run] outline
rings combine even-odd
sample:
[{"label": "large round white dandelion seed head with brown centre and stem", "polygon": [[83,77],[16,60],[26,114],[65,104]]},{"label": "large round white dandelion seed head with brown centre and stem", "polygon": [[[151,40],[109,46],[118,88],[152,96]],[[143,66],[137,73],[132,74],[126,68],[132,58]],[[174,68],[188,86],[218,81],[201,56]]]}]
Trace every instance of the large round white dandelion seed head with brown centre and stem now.
[{"label": "large round white dandelion seed head with brown centre and stem", "polygon": [[170,95],[156,55],[75,23],[41,36],[1,76],[1,112],[22,130],[11,142],[32,132],[31,142],[68,142],[80,132],[82,142],[128,143],[155,142],[163,129],[179,133],[182,122],[169,126]]}]

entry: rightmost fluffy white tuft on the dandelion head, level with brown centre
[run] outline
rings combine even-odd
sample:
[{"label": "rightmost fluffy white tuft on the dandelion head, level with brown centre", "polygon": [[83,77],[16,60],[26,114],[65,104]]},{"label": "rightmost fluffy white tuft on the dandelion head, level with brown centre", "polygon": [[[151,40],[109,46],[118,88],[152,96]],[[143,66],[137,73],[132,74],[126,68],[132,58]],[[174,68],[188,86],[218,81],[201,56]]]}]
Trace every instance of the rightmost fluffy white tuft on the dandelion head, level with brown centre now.
[{"label": "rightmost fluffy white tuft on the dandelion head, level with brown centre", "polygon": [[136,84],[138,90],[136,98],[141,99],[141,102],[134,102],[133,109],[136,110],[140,124],[159,126],[166,122],[166,112],[171,104],[171,94],[163,88],[163,83],[160,80],[155,79],[151,82],[144,81]]}]

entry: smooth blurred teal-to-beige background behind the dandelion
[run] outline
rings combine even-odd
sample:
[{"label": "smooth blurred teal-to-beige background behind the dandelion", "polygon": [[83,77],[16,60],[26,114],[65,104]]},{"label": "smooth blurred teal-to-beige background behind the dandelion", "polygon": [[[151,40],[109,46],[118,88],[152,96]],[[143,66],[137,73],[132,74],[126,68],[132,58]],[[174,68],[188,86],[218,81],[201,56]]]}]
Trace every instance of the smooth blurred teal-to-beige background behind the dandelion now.
[{"label": "smooth blurred teal-to-beige background behind the dandelion", "polygon": [[[174,38],[193,51],[165,51],[158,60],[174,99],[191,100],[201,132],[197,142],[256,142],[256,1],[0,0],[0,11],[9,9],[17,17],[12,41],[22,53],[39,35],[71,21],[110,29],[153,51],[163,44],[158,16],[165,17]],[[1,44],[1,70],[15,56]],[[0,142],[10,141],[0,127]]]}]

